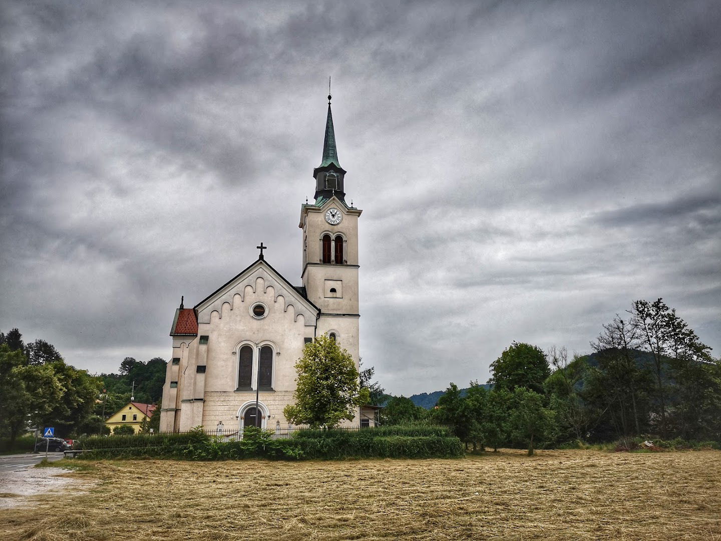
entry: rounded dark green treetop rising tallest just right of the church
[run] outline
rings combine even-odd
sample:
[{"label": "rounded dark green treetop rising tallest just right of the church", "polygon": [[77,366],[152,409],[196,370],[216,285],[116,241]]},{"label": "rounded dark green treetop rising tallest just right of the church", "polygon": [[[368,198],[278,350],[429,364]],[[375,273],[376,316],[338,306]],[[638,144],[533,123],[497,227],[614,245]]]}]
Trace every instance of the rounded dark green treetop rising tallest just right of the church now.
[{"label": "rounded dark green treetop rising tallest just right of the church", "polygon": [[509,391],[523,387],[543,393],[543,384],[551,374],[543,351],[536,346],[518,342],[513,342],[490,367],[493,375],[488,382]]}]

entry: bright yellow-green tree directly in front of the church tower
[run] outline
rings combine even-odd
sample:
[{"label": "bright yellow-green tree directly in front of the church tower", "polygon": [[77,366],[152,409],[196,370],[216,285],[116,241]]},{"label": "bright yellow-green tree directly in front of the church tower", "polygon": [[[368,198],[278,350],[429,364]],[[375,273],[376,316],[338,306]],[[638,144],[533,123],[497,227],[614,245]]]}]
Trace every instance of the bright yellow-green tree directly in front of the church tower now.
[{"label": "bright yellow-green tree directly in front of the church tower", "polygon": [[360,387],[353,357],[332,338],[319,336],[307,343],[296,371],[296,403],[283,409],[291,423],[337,426],[340,421],[352,421],[355,408],[368,403],[368,390]]}]

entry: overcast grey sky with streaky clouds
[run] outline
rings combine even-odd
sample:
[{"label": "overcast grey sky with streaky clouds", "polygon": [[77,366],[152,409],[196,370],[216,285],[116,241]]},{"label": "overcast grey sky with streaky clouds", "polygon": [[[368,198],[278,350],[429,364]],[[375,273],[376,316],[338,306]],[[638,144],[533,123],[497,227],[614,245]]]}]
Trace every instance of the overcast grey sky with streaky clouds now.
[{"label": "overcast grey sky with streaky clouds", "polygon": [[663,297],[721,353],[717,1],[4,1],[0,329],[117,371],[300,284],[328,76],[361,356],[410,395]]}]

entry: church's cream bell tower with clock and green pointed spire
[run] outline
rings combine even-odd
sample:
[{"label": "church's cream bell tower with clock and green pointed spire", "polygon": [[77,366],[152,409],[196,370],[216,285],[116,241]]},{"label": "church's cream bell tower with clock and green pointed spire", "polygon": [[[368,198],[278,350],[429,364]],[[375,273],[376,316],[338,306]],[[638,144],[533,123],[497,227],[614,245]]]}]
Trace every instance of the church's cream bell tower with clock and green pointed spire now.
[{"label": "church's cream bell tower with clock and green pointed spire", "polygon": [[320,309],[317,334],[327,334],[358,363],[358,217],[345,201],[345,174],[335,145],[328,95],[323,157],[313,170],[314,203],[301,205],[303,286]]}]

